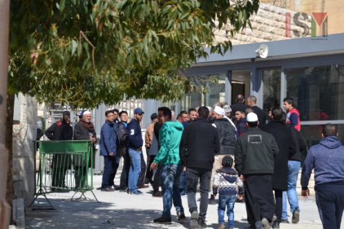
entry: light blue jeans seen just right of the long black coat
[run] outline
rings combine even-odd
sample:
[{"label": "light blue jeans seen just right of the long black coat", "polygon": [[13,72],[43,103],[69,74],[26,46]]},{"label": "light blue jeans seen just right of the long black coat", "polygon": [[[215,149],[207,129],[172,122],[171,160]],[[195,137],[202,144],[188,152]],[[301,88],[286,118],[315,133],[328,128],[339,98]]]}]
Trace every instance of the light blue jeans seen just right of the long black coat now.
[{"label": "light blue jeans seen just right of the long black coat", "polygon": [[285,194],[288,195],[288,201],[290,205],[290,212],[298,210],[298,194],[296,192],[296,183],[298,181],[298,172],[300,170],[300,161],[288,161],[288,190],[283,192],[283,210],[282,210],[282,219],[288,219],[287,215],[287,199]]}]

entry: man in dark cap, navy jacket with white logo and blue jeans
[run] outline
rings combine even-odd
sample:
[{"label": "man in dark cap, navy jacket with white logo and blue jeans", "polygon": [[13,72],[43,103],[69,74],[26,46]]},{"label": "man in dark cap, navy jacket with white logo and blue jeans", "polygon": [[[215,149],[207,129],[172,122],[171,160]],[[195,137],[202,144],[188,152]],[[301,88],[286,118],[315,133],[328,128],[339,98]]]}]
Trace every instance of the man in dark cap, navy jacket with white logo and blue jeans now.
[{"label": "man in dark cap, navy jacket with white logo and blue jeans", "polygon": [[128,148],[129,156],[131,159],[131,165],[128,178],[128,194],[143,195],[140,190],[137,189],[137,181],[139,179],[141,170],[141,155],[142,155],[142,132],[140,127],[140,121],[142,120],[144,112],[141,108],[135,108],[134,118],[128,123]]}]

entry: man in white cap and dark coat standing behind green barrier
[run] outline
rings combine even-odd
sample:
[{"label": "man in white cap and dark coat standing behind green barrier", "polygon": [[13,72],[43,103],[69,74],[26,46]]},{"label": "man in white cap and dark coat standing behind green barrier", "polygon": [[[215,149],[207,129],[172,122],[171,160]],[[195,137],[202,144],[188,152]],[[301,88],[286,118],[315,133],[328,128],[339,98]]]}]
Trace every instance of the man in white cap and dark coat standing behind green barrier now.
[{"label": "man in white cap and dark coat standing behind green barrier", "polygon": [[[91,113],[86,110],[79,115],[79,121],[74,126],[74,140],[89,140],[93,145],[93,152],[90,157],[93,159],[93,165],[95,161],[95,143],[97,143],[97,135],[95,133],[95,126],[90,121]],[[87,163],[88,161],[88,163]],[[90,167],[91,158],[82,159],[82,155],[75,155],[73,164],[75,166],[75,188],[85,188],[87,183],[88,168]]]}]

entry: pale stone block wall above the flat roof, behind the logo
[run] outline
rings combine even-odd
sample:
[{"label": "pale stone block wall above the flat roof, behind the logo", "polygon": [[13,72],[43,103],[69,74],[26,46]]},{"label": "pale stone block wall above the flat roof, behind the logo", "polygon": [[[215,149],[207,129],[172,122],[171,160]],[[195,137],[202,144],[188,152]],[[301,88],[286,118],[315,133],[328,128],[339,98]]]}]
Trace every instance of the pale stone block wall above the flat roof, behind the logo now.
[{"label": "pale stone block wall above the flat roof, behind the logo", "polygon": [[[285,15],[289,12],[291,14],[290,23],[290,35],[286,37],[286,26],[285,26]],[[293,30],[298,32],[304,32],[304,29],[300,26],[296,26],[292,17],[296,12],[287,10],[285,8],[279,8],[271,6],[269,4],[260,3],[260,8],[257,14],[251,17],[252,30],[250,28],[244,29],[242,32],[236,34],[234,37],[230,35],[230,26],[227,24],[220,31],[215,31],[216,43],[227,41],[231,39],[233,45],[244,44],[244,43],[258,43],[265,41],[278,41],[283,39],[297,38]],[[304,20],[301,17],[298,19],[300,23],[305,23],[311,28],[310,18]],[[308,36],[310,36],[310,32]]]}]

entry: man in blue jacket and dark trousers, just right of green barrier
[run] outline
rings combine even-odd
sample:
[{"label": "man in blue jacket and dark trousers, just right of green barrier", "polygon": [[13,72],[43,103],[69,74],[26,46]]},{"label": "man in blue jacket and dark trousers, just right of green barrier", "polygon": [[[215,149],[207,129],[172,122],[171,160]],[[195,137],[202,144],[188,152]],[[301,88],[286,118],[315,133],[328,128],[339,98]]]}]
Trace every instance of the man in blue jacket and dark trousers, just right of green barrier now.
[{"label": "man in blue jacket and dark trousers, just right of green barrier", "polygon": [[100,156],[104,157],[104,171],[102,191],[113,192],[113,179],[115,178],[116,151],[120,144],[117,125],[113,122],[115,115],[112,110],[105,112],[105,123],[100,130]]}]

